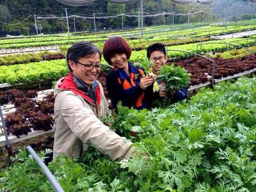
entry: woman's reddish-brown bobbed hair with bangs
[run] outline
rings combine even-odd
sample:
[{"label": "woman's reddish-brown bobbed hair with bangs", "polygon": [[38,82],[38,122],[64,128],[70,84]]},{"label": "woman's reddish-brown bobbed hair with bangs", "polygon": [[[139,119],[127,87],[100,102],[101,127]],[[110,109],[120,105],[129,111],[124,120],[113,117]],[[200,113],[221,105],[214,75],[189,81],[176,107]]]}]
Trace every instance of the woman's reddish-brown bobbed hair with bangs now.
[{"label": "woman's reddish-brown bobbed hair with bangs", "polygon": [[103,47],[103,57],[104,59],[111,65],[110,58],[114,54],[125,54],[126,58],[129,60],[132,49],[128,42],[119,36],[115,36],[112,38],[109,38]]}]

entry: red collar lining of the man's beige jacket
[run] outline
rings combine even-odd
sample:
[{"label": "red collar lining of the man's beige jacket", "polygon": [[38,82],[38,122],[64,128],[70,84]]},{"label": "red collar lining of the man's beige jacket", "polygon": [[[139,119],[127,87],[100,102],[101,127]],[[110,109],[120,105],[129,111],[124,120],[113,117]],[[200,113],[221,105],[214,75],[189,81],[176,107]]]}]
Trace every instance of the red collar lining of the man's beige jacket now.
[{"label": "red collar lining of the man's beige jacket", "polygon": [[[93,99],[88,96],[88,93],[82,92],[81,90],[78,89],[77,84],[75,84],[72,73],[69,73],[68,76],[62,81],[62,84],[59,86],[59,88],[64,89],[64,90],[70,90],[74,92],[74,94],[81,96],[84,98],[86,101],[88,101],[90,104],[95,105],[93,103]],[[96,101],[97,101],[97,109],[100,106],[101,103],[101,89],[99,84],[97,84],[94,87],[95,90],[95,96],[96,96]]]}]

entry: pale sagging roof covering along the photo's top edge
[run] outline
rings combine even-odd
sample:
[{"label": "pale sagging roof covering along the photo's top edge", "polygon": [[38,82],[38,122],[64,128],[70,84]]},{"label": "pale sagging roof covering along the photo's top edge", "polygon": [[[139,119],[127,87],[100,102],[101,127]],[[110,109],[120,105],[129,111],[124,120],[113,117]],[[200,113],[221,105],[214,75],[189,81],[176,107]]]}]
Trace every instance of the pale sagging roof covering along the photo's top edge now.
[{"label": "pale sagging roof covering along the photo's top edge", "polygon": [[[61,2],[62,4],[70,5],[70,6],[84,6],[91,4],[97,0],[57,0],[58,2]],[[126,3],[131,0],[106,0],[112,3]],[[194,2],[199,2],[201,4],[210,4],[213,0],[171,0],[174,3],[177,4],[190,4]],[[256,1],[256,0],[251,0]]]}]

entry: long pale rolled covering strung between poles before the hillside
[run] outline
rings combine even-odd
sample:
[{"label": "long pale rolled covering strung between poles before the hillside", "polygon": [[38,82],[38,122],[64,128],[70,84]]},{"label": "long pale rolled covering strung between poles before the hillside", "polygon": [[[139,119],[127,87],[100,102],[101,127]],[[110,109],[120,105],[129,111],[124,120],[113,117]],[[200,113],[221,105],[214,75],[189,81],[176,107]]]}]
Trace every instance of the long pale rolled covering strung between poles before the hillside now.
[{"label": "long pale rolled covering strung between poles before the hillside", "polygon": [[[200,12],[194,12],[194,13],[186,13],[186,14],[179,14],[179,13],[175,13],[175,12],[171,12],[171,13],[167,13],[167,12],[163,12],[163,13],[158,13],[158,14],[154,14],[154,15],[144,15],[143,17],[156,17],[159,15],[195,15],[198,13],[203,13],[202,11]],[[120,15],[114,15],[114,16],[103,16],[103,17],[95,17],[95,19],[109,19],[109,18],[115,18],[115,17],[119,17],[119,16],[127,16],[127,17],[138,17],[138,15],[126,15],[126,14],[120,14]],[[81,18],[81,19],[94,19],[94,17],[84,17],[84,16],[78,16],[78,15],[70,15],[68,16],[68,18]],[[66,17],[37,17],[37,19],[65,19]]]}]

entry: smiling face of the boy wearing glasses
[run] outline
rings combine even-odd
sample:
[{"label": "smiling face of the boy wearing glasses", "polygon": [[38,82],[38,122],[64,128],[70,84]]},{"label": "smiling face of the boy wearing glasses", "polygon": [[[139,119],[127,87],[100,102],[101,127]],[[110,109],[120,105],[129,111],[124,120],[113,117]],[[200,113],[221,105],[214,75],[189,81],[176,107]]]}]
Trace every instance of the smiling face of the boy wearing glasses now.
[{"label": "smiling face of the boy wearing glasses", "polygon": [[163,67],[167,62],[167,55],[164,55],[162,51],[154,51],[150,55],[150,60],[152,61],[152,69],[154,73],[159,72],[161,67]]}]

